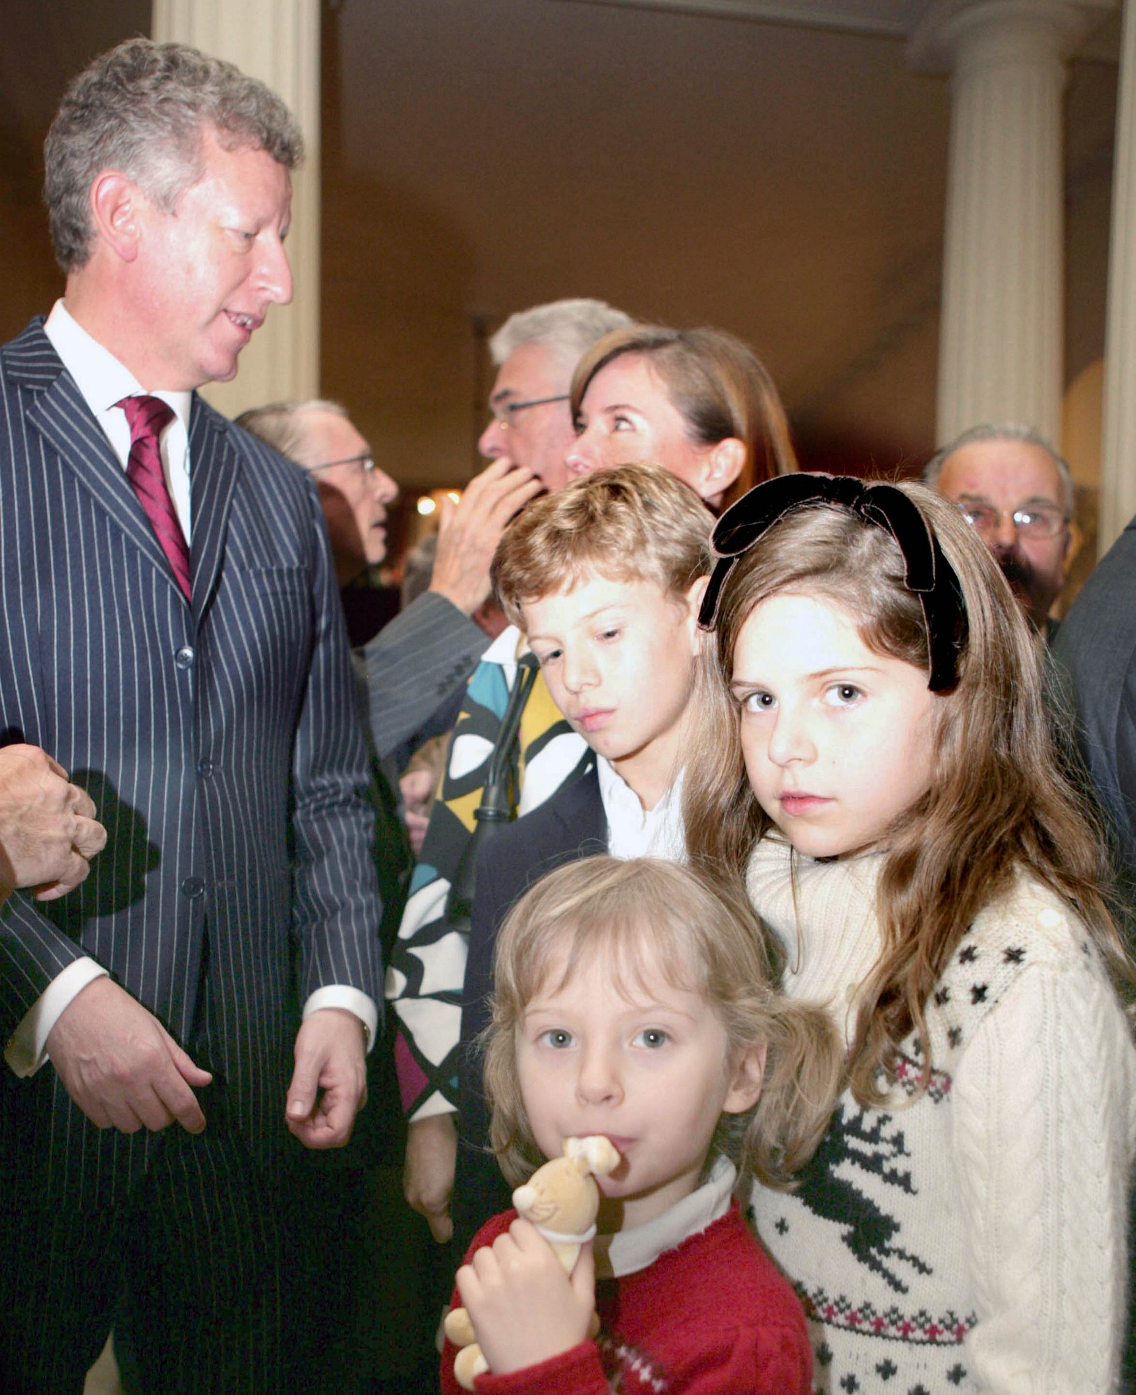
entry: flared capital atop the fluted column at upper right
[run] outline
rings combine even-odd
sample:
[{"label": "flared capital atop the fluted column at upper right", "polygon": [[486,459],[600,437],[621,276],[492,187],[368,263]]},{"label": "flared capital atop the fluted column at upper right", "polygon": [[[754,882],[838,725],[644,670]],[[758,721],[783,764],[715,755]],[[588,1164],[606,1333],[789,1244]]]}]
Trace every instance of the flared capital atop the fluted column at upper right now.
[{"label": "flared capital atop the fluted column at upper right", "polygon": [[907,45],[922,73],[1063,61],[1119,0],[931,0]]}]

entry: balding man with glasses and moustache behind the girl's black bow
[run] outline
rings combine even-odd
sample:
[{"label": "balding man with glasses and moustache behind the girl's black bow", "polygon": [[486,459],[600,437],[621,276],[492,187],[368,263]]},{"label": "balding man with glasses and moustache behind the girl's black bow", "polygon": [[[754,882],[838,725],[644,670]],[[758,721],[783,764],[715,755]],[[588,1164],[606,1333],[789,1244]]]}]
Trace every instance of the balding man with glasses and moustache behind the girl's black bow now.
[{"label": "balding man with glasses and moustache behind the girl's black bow", "polygon": [[1052,640],[1058,622],[1049,610],[1065,585],[1073,544],[1068,462],[1029,427],[981,425],[938,451],[922,478],[959,505],[1030,624]]}]

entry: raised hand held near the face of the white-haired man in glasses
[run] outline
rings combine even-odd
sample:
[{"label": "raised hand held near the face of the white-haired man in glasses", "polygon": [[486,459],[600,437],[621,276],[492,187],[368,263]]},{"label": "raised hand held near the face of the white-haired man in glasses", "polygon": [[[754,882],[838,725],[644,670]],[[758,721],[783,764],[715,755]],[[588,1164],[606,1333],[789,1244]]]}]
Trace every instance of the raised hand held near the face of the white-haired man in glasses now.
[{"label": "raised hand held near the face of the white-haired man in glasses", "polygon": [[488,596],[488,564],[505,525],[543,487],[532,470],[502,456],[469,481],[461,504],[444,499],[430,590],[472,615]]}]

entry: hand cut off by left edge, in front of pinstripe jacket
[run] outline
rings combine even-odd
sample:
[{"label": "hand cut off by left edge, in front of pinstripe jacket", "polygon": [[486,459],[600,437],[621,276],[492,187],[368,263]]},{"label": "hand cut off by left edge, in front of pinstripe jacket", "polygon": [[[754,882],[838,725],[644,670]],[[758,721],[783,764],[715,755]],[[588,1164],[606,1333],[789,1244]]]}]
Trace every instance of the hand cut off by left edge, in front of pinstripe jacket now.
[{"label": "hand cut off by left edge, in front of pinstripe jacket", "polygon": [[38,746],[0,749],[0,901],[35,886],[40,901],[64,896],[105,845],[91,797]]}]

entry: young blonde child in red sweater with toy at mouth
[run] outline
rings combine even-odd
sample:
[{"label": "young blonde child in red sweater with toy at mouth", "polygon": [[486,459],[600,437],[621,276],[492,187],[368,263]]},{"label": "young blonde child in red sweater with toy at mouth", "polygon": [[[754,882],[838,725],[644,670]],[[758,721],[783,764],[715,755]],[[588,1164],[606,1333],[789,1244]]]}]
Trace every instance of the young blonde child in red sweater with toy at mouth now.
[{"label": "young blonde child in red sweater with toy at mouth", "polygon": [[621,1161],[571,1276],[515,1211],[479,1232],[458,1272],[491,1371],[477,1389],[807,1395],[804,1314],[733,1191],[738,1170],[772,1186],[808,1156],[839,1060],[825,1014],[772,990],[740,886],[596,857],[528,891],[497,946],[494,1148],[514,1183],[565,1137],[601,1134]]}]

